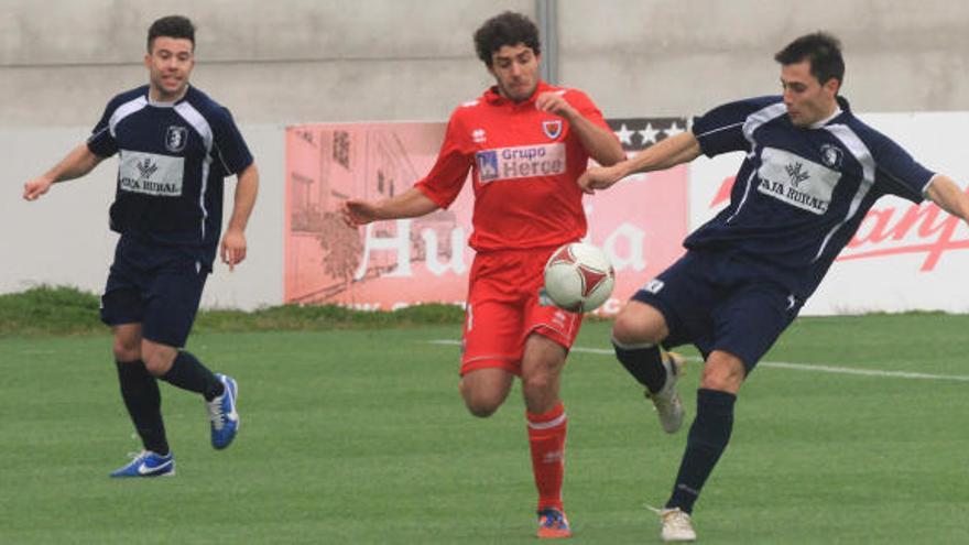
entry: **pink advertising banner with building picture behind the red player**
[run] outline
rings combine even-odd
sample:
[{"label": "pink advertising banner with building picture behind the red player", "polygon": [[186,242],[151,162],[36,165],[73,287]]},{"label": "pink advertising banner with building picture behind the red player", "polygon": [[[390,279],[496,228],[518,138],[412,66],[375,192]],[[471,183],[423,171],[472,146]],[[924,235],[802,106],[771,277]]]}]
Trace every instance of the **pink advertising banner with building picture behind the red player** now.
[{"label": "pink advertising banner with building picture behind the red player", "polygon": [[[686,128],[683,119],[612,120],[628,153]],[[464,305],[473,252],[472,190],[446,210],[359,229],[344,225],[347,198],[381,199],[407,190],[429,171],[444,123],[350,123],[286,130],[284,301],[395,309],[417,303]],[[617,272],[614,314],[650,277],[683,252],[686,166],[633,176],[586,197],[587,240]]]}]

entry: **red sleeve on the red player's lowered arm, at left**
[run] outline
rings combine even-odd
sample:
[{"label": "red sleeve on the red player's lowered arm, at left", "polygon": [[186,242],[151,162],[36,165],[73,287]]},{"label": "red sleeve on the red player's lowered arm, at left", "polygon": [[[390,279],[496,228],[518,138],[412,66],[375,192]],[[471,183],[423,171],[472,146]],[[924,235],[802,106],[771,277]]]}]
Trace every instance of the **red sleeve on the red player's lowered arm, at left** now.
[{"label": "red sleeve on the red player's lowered arm, at left", "polygon": [[466,145],[467,134],[461,131],[461,124],[457,112],[451,115],[434,167],[414,184],[417,190],[442,208],[447,208],[458,198],[471,168],[471,156],[466,151],[469,149]]}]

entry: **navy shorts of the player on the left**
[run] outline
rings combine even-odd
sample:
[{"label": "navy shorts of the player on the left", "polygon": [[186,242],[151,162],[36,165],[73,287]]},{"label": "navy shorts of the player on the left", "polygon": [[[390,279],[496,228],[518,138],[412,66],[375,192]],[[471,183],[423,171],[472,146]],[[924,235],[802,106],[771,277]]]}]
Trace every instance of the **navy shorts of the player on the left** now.
[{"label": "navy shorts of the player on the left", "polygon": [[141,324],[143,338],[182,348],[208,274],[192,252],[121,237],[101,296],[101,321]]}]

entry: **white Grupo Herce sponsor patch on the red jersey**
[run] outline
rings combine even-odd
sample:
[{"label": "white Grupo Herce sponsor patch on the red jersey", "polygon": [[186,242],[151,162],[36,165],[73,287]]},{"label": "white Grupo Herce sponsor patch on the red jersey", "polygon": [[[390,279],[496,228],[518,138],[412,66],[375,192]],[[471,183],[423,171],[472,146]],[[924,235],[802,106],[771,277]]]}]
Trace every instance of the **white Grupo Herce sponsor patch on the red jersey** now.
[{"label": "white Grupo Herce sponsor patch on the red jersey", "polygon": [[475,159],[482,184],[498,179],[530,178],[564,174],[565,144],[519,145],[481,150]]}]

